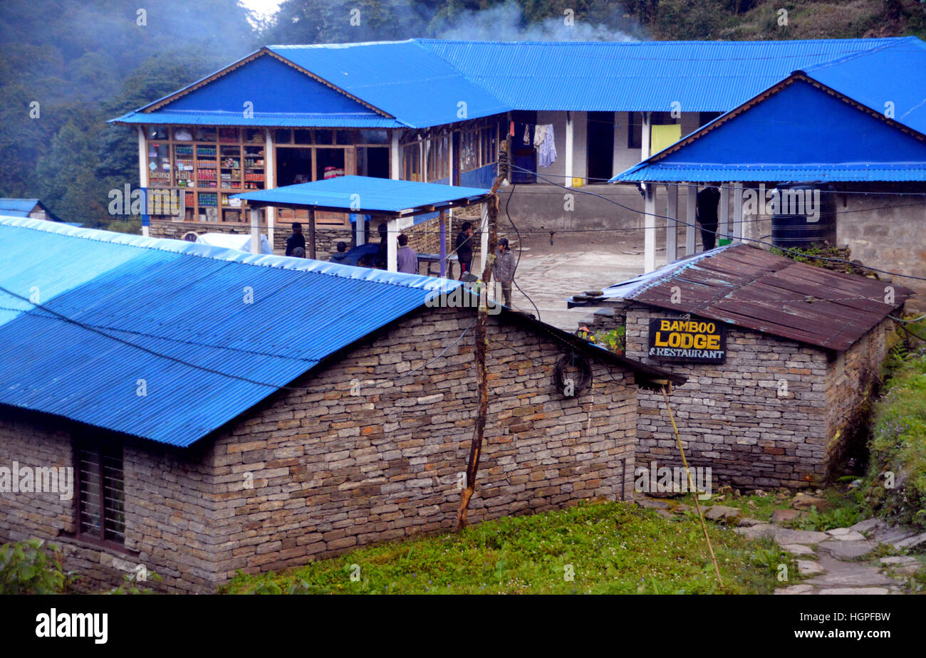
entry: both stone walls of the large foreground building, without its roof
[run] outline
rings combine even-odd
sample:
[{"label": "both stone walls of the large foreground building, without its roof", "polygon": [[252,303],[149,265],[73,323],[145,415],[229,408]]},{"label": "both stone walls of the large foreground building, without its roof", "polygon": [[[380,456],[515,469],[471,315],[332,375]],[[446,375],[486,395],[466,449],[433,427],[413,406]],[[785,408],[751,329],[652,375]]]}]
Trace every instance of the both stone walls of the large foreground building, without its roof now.
[{"label": "both stone walls of the large foreground building, without its roof", "polygon": [[[472,329],[458,340],[472,322],[470,309],[421,310],[192,448],[125,443],[124,550],[75,539],[75,503],[57,494],[0,497],[0,540],[65,545],[84,590],[119,584],[141,564],[164,578],[158,589],[202,592],[239,568],[450,528],[476,414]],[[490,318],[470,522],[632,496],[632,374],[593,362],[591,390],[566,398],[552,382],[561,354],[552,339]],[[70,441],[60,421],[0,416],[0,466],[70,465]]]}]

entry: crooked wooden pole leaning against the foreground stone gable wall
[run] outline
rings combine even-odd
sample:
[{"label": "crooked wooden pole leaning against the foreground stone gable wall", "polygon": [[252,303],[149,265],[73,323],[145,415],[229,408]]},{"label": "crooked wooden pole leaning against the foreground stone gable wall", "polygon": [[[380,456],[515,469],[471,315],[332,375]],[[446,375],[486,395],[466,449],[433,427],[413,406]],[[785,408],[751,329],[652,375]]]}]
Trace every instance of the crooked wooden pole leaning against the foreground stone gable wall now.
[{"label": "crooked wooden pole leaning against the foreground stone gable wall", "polygon": [[489,338],[486,334],[486,324],[489,317],[489,279],[492,277],[492,265],[495,261],[495,249],[498,248],[498,234],[495,225],[498,219],[498,187],[504,178],[498,176],[489,191],[486,202],[489,205],[489,253],[485,255],[485,267],[482,269],[482,281],[477,283],[479,290],[479,310],[476,316],[476,385],[479,391],[479,409],[476,412],[476,427],[473,428],[472,442],[469,445],[469,464],[466,467],[466,487],[460,496],[460,506],[457,509],[457,530],[466,528],[466,513],[469,510],[469,499],[476,490],[476,474],[479,472],[479,455],[482,453],[482,437],[485,436],[485,417],[489,413],[489,379],[486,366],[486,352],[489,349]]}]

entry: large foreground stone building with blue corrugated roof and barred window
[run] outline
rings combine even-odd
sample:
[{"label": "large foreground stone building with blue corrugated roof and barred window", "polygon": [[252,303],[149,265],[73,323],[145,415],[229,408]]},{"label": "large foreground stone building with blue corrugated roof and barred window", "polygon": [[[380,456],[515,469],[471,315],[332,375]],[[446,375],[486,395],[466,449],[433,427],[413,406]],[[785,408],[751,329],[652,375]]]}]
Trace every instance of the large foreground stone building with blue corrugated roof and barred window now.
[{"label": "large foreground stone building with blue corrugated roof and barred window", "polygon": [[[209,592],[452,526],[477,403],[457,281],[31,219],[0,236],[0,541],[62,546],[86,590],[144,565]],[[493,311],[471,521],[631,497],[636,390],[683,379]],[[564,357],[591,375],[572,395]]]}]

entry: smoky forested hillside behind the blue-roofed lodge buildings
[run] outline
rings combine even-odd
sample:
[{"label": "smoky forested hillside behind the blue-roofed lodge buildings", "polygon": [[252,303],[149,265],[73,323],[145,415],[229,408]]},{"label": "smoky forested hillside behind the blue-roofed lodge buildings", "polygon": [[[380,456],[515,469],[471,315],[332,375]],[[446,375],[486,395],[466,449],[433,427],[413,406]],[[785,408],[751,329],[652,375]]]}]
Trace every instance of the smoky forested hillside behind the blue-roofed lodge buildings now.
[{"label": "smoky forested hillside behind the blue-roofed lodge buildings", "polygon": [[268,43],[926,37],[920,0],[284,0],[270,20],[237,0],[138,5],[0,4],[0,197],[40,198],[66,221],[129,230],[107,214],[107,193],[137,185],[137,140],[106,121]]}]

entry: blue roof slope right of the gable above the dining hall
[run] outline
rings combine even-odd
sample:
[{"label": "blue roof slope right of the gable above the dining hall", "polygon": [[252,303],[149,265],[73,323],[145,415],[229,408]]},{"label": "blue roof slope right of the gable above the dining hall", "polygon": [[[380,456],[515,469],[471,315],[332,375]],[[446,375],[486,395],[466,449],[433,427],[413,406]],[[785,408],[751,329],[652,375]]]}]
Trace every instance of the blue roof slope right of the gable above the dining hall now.
[{"label": "blue roof slope right of the gable above the dining hall", "polygon": [[412,40],[269,49],[414,128],[510,109]]}]

